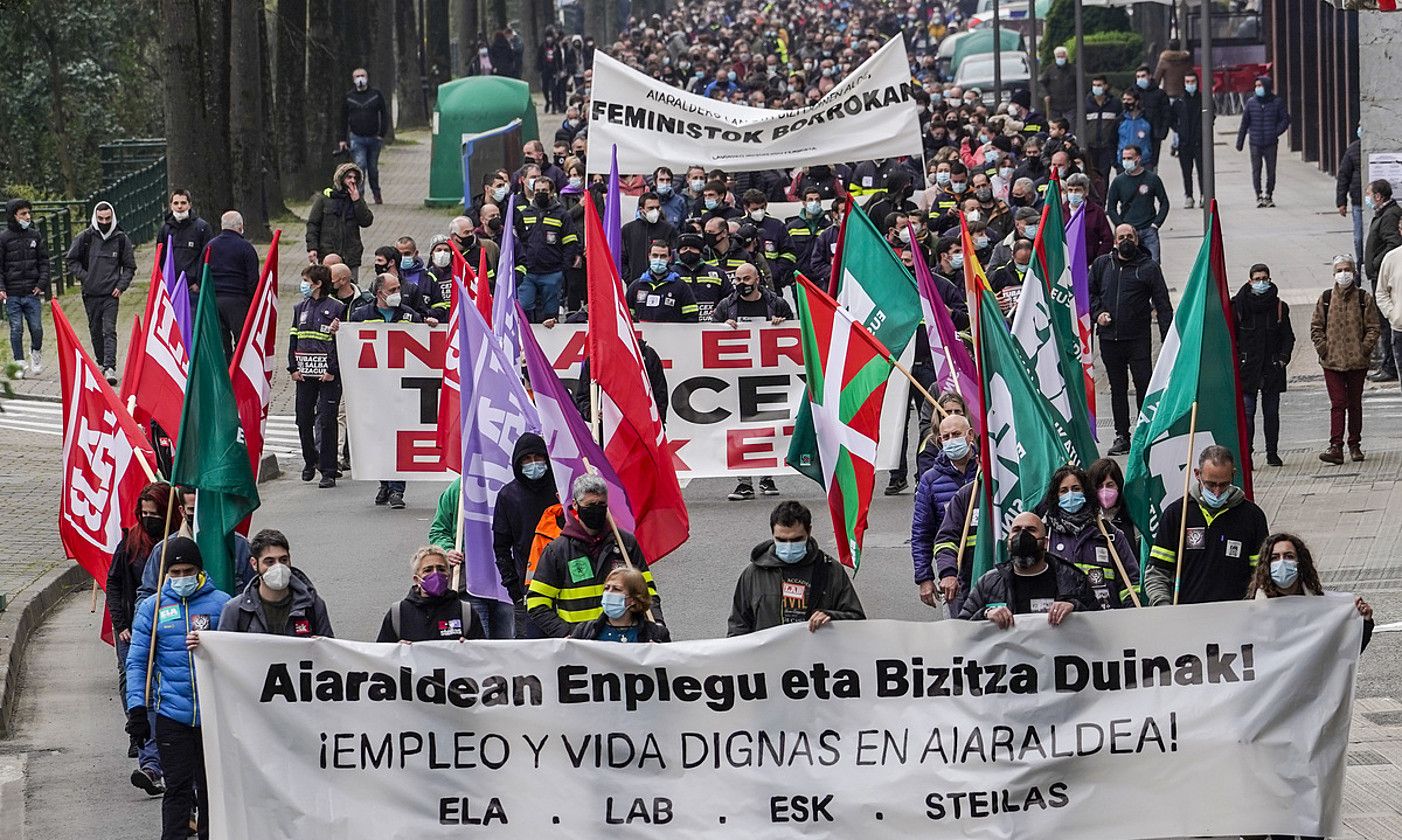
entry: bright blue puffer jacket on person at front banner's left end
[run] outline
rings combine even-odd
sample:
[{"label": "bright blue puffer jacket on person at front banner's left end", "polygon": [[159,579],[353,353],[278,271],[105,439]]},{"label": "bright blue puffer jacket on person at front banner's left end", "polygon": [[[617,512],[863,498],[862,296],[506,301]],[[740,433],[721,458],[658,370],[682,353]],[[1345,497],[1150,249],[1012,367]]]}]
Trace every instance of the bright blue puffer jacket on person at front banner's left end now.
[{"label": "bright blue puffer jacket on person at front banner's left end", "polygon": [[186,726],[199,726],[199,700],[195,696],[195,656],[185,649],[185,634],[192,630],[219,630],[219,613],[229,603],[229,593],[203,579],[189,597],[175,595],[170,578],[161,588],[160,613],[154,597],[136,607],[132,621],[132,646],[126,653],[126,707],[146,705],[146,656],[156,628],[156,658],[151,662],[150,711]]}]

